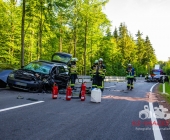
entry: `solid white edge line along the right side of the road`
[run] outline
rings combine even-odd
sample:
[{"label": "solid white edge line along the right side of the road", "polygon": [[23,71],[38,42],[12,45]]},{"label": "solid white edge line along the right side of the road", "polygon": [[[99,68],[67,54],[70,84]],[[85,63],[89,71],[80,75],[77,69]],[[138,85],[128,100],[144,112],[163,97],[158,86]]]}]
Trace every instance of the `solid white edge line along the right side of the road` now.
[{"label": "solid white edge line along the right side of the road", "polygon": [[[154,84],[151,89],[150,89],[150,92],[152,92],[154,86],[156,86],[158,83]],[[151,93],[152,94],[152,93]],[[150,102],[149,103],[149,108],[150,108],[150,116],[151,116],[151,121],[152,121],[152,124],[153,122],[156,122],[156,124],[158,124],[157,122],[157,119],[153,116],[155,116],[155,112],[154,112],[154,109],[153,109],[153,104]],[[151,114],[152,113],[152,114]],[[158,125],[152,125],[152,130],[153,130],[153,134],[154,134],[154,138],[155,140],[163,140],[162,138],[162,134],[161,134],[161,131],[159,129],[159,126]]]}]

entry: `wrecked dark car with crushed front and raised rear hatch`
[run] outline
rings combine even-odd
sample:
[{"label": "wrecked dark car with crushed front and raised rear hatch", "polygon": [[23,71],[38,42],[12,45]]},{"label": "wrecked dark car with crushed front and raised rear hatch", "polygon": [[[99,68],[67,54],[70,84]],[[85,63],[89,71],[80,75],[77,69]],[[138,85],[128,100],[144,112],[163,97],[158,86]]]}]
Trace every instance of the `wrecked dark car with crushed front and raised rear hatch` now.
[{"label": "wrecked dark car with crushed front and raised rear hatch", "polygon": [[39,92],[51,89],[54,83],[59,89],[66,88],[69,83],[67,64],[70,54],[55,53],[52,61],[37,60],[24,66],[22,69],[12,71],[7,77],[10,88],[22,89],[30,92]]}]

